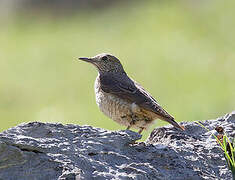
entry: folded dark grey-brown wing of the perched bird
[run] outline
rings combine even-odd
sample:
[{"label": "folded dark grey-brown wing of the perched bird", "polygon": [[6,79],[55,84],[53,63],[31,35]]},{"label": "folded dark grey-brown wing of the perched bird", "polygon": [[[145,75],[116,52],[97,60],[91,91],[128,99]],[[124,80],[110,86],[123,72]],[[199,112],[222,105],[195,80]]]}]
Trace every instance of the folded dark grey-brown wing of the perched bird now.
[{"label": "folded dark grey-brown wing of the perched bird", "polygon": [[174,120],[146,90],[127,75],[103,75],[100,76],[100,84],[101,89],[106,93],[136,103],[139,107],[154,112],[165,120]]}]

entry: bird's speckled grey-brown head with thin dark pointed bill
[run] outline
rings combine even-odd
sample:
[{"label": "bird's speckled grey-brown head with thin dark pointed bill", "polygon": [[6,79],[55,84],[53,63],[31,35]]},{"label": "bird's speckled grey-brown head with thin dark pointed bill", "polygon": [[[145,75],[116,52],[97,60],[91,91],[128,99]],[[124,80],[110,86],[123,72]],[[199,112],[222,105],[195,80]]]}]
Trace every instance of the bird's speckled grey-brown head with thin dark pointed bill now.
[{"label": "bird's speckled grey-brown head with thin dark pointed bill", "polygon": [[91,58],[82,57],[79,58],[82,61],[93,64],[99,71],[99,73],[115,72],[124,73],[121,62],[115,56],[107,53],[98,54]]}]

